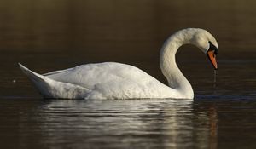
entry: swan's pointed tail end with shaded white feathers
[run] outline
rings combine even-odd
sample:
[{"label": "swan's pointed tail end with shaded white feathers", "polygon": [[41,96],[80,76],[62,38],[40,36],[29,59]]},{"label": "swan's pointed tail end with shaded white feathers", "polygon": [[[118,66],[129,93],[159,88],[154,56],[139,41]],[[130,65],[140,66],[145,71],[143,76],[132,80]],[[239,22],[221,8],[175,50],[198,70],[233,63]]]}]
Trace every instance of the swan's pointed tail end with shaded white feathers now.
[{"label": "swan's pointed tail end with shaded white feathers", "polygon": [[90,92],[89,89],[85,89],[79,85],[62,83],[40,75],[37,72],[32,72],[20,63],[19,66],[21,71],[32,81],[44,98],[81,99]]}]

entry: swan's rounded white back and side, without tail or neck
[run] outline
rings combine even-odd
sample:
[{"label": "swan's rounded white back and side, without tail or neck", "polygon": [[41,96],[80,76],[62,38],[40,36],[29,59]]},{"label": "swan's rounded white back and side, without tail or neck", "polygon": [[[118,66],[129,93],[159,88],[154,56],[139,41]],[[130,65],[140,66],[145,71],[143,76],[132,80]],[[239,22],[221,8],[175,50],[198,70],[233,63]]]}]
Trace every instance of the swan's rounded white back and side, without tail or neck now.
[{"label": "swan's rounded white back and side, without tail or neck", "polygon": [[172,94],[172,89],[137,67],[114,62],[76,66],[44,76],[89,89],[85,98],[91,99],[160,98]]}]

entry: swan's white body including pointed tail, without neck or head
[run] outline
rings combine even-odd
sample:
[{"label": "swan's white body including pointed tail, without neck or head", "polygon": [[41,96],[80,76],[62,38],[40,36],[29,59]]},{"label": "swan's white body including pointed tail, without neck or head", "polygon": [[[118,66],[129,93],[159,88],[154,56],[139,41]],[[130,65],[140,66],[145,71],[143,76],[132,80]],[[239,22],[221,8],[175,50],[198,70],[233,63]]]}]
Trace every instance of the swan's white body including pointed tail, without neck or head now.
[{"label": "swan's white body including pointed tail, without neck or head", "polygon": [[167,98],[174,92],[135,66],[99,63],[49,72],[20,66],[46,97],[85,99]]}]

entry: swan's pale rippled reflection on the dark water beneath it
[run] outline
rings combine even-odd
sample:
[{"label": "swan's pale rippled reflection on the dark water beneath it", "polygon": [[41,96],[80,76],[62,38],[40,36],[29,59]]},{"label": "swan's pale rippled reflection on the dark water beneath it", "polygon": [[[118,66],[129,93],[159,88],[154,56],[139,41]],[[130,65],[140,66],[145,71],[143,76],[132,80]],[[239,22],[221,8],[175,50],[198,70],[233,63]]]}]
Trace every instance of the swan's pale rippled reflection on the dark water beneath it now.
[{"label": "swan's pale rippled reflection on the dark water beneath it", "polygon": [[[13,102],[16,106],[12,107],[13,112],[1,115],[1,119],[5,119],[2,127],[12,128],[10,134],[19,133],[13,140],[22,148],[40,144],[53,148],[197,148],[207,147],[214,137],[209,134],[213,117],[208,117],[206,112],[193,114],[190,100]],[[24,107],[24,102],[31,105]],[[8,110],[8,107],[9,102],[2,100],[1,109]],[[12,115],[16,115],[19,123],[13,123]],[[202,119],[206,122],[200,123]]]}]

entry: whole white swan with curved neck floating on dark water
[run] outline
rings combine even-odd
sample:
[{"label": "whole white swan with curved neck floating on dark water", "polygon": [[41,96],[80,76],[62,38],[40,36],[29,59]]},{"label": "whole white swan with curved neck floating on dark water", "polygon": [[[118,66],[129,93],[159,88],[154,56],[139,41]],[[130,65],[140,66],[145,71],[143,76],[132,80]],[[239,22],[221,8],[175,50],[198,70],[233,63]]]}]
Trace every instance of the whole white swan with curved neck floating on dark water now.
[{"label": "whole white swan with curved neck floating on dark water", "polygon": [[76,66],[43,75],[32,72],[20,63],[20,69],[44,98],[55,99],[193,99],[194,92],[175,60],[177,49],[194,44],[207,54],[217,69],[218,43],[204,29],[187,28],[168,37],[160,49],[160,68],[168,86],[141,69],[116,62]]}]

